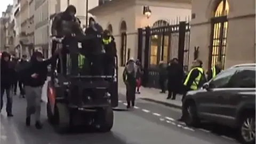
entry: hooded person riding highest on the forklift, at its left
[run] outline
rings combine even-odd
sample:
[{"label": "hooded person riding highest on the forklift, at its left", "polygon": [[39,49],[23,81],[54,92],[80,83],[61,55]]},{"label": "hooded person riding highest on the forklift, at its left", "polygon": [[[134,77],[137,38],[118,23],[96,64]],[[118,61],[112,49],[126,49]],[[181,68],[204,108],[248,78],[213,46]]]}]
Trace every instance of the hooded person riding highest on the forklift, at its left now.
[{"label": "hooded person riding highest on the forklift, at its left", "polygon": [[[67,63],[67,53],[68,49],[66,48],[67,45],[71,45],[77,43],[74,36],[79,37],[83,36],[83,29],[80,26],[81,21],[79,21],[78,18],[75,17],[76,14],[76,7],[74,5],[69,5],[67,9],[64,12],[60,12],[55,15],[52,27],[51,27],[51,33],[52,37],[65,37],[62,41],[63,49],[61,51],[62,53],[62,62]],[[55,52],[55,49],[57,49],[57,42],[52,42],[52,55]],[[56,61],[57,59],[52,61],[52,69],[55,69],[56,67]],[[63,73],[66,74],[66,65],[63,65]],[[58,62],[57,67],[58,73],[60,72],[60,62]]]}]

